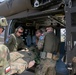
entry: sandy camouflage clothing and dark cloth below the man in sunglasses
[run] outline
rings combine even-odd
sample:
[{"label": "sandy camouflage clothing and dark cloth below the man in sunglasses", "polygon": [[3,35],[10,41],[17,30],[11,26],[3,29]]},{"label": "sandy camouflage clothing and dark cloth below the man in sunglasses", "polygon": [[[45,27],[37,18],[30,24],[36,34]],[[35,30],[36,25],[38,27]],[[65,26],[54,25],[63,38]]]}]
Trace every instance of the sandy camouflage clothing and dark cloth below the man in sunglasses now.
[{"label": "sandy camouflage clothing and dark cloth below the man in sunglasses", "polygon": [[32,51],[18,51],[10,53],[11,59],[11,74],[21,74],[28,68],[30,61],[35,59]]}]

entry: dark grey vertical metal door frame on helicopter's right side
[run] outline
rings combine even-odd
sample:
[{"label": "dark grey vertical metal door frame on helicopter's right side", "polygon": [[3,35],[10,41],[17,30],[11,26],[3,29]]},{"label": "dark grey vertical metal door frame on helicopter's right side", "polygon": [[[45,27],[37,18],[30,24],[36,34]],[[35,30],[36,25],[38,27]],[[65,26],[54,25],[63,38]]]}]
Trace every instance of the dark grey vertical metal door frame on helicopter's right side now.
[{"label": "dark grey vertical metal door frame on helicopter's right side", "polygon": [[76,6],[72,6],[73,0],[65,0],[65,16],[66,16],[66,47],[67,47],[67,62],[72,63],[72,59],[76,56],[76,26],[72,25],[73,13],[76,13]]}]

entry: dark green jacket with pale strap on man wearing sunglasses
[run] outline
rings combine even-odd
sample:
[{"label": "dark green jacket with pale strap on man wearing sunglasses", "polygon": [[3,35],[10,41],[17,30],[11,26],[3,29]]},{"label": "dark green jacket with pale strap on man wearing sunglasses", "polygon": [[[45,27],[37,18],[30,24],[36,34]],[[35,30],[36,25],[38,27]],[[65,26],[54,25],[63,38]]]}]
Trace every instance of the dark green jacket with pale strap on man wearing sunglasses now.
[{"label": "dark green jacket with pale strap on man wearing sunglasses", "polygon": [[17,37],[15,35],[15,33],[10,35],[9,40],[6,43],[6,45],[9,48],[10,52],[17,51],[20,48],[26,49],[26,46],[25,46],[22,38]]}]

